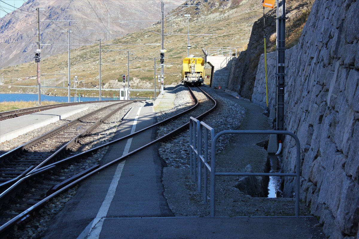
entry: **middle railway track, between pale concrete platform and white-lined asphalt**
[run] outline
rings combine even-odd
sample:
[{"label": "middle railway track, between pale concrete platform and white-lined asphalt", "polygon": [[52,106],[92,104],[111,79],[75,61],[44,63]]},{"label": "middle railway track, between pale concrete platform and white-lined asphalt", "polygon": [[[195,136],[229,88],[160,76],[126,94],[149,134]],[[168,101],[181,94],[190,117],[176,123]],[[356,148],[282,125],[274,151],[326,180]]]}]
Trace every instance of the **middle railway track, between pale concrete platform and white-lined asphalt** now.
[{"label": "middle railway track, between pale concrete platform and white-lined asphalt", "polygon": [[81,146],[81,138],[131,103],[132,101],[117,102],[102,107],[1,155],[0,192],[23,177],[25,172],[45,166],[60,157],[74,154],[75,149]]}]

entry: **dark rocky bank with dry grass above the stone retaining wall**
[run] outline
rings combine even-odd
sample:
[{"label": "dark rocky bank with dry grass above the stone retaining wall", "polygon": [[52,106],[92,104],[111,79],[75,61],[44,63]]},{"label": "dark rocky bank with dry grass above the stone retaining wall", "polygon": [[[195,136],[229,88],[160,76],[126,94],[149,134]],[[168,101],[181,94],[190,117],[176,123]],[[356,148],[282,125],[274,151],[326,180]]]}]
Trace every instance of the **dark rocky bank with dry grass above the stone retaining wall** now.
[{"label": "dark rocky bank with dry grass above the stone retaining wall", "polygon": [[[297,42],[300,32],[307,19],[314,0],[286,1],[286,48]],[[276,8],[265,15],[265,34],[267,52],[275,50],[276,45]],[[289,43],[289,44],[288,44]],[[251,30],[251,37],[247,50],[242,52],[232,64],[228,80],[228,89],[237,91],[239,95],[251,99],[258,60],[264,53],[264,25],[263,14],[255,21]]]}]

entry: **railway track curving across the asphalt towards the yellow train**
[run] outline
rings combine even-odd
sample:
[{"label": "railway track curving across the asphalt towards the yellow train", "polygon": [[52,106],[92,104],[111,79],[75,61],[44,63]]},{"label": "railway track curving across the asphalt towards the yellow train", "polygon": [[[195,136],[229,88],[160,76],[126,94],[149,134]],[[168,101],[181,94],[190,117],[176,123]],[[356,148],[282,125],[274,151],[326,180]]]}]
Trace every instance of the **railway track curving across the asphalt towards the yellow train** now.
[{"label": "railway track curving across the asphalt towards the yellow train", "polygon": [[[202,91],[201,94],[206,94],[208,99],[212,101],[211,107],[206,106],[206,112],[201,113],[199,115],[199,111],[197,110],[197,106],[199,105],[198,100],[194,96],[194,94],[200,94],[199,92],[193,93],[191,92],[192,96],[195,100],[195,105],[191,107],[191,109],[188,109],[180,114],[176,114],[168,119],[162,120],[154,125],[151,125],[145,129],[138,130],[135,133],[129,134],[125,137],[122,137],[120,139],[113,140],[109,143],[103,144],[99,147],[95,147],[93,149],[87,150],[85,152],[73,155],[71,157],[62,159],[60,161],[48,164],[47,166],[38,167],[35,170],[31,170],[30,172],[26,173],[23,178],[21,178],[18,182],[16,182],[13,186],[8,188],[6,191],[1,193],[0,195],[0,202],[6,201],[8,203],[3,204],[2,211],[4,212],[4,215],[0,218],[3,219],[3,225],[0,226],[0,234],[4,234],[6,230],[11,228],[12,225],[15,223],[18,223],[19,221],[24,221],[31,215],[34,215],[36,212],[38,212],[48,201],[59,195],[60,193],[64,192],[65,190],[75,186],[79,182],[85,180],[86,178],[94,175],[97,172],[100,172],[104,168],[107,168],[115,163],[118,163],[125,158],[129,157],[130,155],[139,152],[140,150],[149,147],[152,144],[155,144],[157,142],[168,140],[169,138],[175,136],[176,134],[182,132],[186,127],[188,127],[188,112],[191,111],[191,116],[194,116],[196,118],[201,118],[207,114],[209,114],[211,111],[213,111],[216,107],[216,102],[213,98],[211,98],[206,92]],[[201,112],[203,110],[200,110]],[[136,150],[133,150],[132,152],[129,152],[128,154],[114,159],[113,161],[104,164],[102,166],[99,166],[98,164],[93,165],[92,167],[84,170],[81,169],[81,167],[78,167],[81,165],[81,163],[78,163],[77,165],[71,164],[70,167],[66,167],[70,162],[74,161],[80,161],[81,159],[87,158],[89,155],[92,155],[93,153],[96,153],[97,150],[102,149],[104,147],[107,147],[110,144],[121,142],[121,140],[125,140],[128,138],[133,138],[132,140],[139,140],[136,139],[136,136],[139,136],[141,132],[144,132],[145,130],[152,130],[153,127],[158,125],[166,125],[166,128],[168,123],[177,120],[177,126],[174,127],[171,132],[163,135],[160,138],[155,139],[152,142],[144,142],[143,145]],[[180,124],[181,126],[178,127],[178,122],[183,121],[184,124]],[[173,124],[172,124],[173,125]],[[172,126],[171,126],[172,128]],[[140,137],[140,136],[139,136]],[[141,140],[140,140],[141,141]],[[70,170],[71,168],[71,170]],[[74,169],[76,168],[76,170]],[[73,170],[74,169],[74,170]],[[72,176],[69,175],[69,171],[71,171]],[[75,172],[76,171],[76,172]],[[56,175],[56,176],[54,176]],[[56,179],[56,180],[55,180]],[[61,180],[59,180],[61,179]],[[23,183],[27,182],[27,185],[32,185],[31,187],[23,188]],[[36,195],[34,191],[37,191]],[[20,193],[19,193],[20,192]],[[29,193],[30,192],[30,193]],[[25,194],[28,193],[28,194]],[[40,196],[38,196],[40,193]],[[14,197],[17,195],[16,197]],[[19,195],[21,199],[19,199]],[[25,196],[26,195],[26,196]],[[24,201],[23,204],[20,205],[21,201]],[[20,205],[20,206],[19,206]],[[25,209],[26,208],[26,209]]]}]

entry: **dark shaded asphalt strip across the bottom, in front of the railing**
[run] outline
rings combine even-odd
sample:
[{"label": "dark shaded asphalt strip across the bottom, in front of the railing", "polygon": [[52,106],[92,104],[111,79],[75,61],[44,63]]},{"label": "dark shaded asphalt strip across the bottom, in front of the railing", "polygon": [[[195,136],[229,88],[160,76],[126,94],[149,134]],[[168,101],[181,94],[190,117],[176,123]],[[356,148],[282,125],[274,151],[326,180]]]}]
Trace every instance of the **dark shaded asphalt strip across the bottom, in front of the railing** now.
[{"label": "dark shaded asphalt strip across the bottom, in front of the railing", "polygon": [[[324,238],[312,217],[103,218],[99,237],[87,238]],[[308,228],[309,227],[309,228]],[[304,230],[303,230],[304,229]],[[82,238],[79,236],[78,239]]]}]

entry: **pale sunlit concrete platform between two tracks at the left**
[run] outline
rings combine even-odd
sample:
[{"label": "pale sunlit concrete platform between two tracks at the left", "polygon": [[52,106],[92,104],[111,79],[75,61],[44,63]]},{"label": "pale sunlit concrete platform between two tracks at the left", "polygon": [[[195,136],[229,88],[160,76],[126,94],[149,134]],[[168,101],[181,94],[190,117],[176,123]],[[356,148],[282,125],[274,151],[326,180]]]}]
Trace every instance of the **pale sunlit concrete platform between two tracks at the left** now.
[{"label": "pale sunlit concrete platform between two tracks at the left", "polygon": [[65,106],[0,121],[0,143],[87,109],[84,106]]}]

